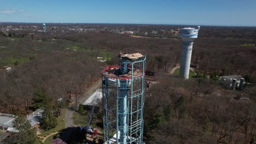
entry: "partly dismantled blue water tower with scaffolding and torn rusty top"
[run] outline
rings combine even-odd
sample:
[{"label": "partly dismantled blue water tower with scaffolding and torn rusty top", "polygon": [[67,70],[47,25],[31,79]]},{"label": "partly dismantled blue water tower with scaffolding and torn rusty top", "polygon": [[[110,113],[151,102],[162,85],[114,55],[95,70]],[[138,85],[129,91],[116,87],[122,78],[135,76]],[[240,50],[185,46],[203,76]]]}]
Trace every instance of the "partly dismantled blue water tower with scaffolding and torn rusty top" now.
[{"label": "partly dismantled blue water tower with scaffolding and torn rusty top", "polygon": [[120,64],[102,70],[105,143],[143,143],[146,56],[120,53]]}]

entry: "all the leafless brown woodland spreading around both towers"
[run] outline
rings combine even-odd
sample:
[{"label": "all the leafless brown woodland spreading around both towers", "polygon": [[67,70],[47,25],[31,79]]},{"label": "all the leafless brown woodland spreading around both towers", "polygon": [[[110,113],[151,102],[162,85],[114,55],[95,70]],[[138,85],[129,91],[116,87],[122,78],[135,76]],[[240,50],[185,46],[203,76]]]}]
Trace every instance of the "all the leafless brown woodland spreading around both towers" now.
[{"label": "all the leafless brown woodland spreading around both towers", "polygon": [[[145,27],[143,27],[145,28]],[[0,109],[30,113],[37,89],[51,104],[77,99],[100,79],[100,70],[117,64],[117,53],[147,55],[146,69],[158,84],[147,90],[144,140],[148,143],[256,142],[256,46],[249,28],[222,31],[202,27],[194,41],[192,63],[205,75],[243,75],[251,85],[242,91],[220,87],[218,81],[181,80],[168,75],[181,60],[181,39],[135,38],[107,31],[88,33],[15,33],[0,37]],[[214,30],[214,31],[212,31]],[[104,57],[106,63],[97,62]],[[207,78],[207,77],[205,77]],[[236,100],[242,95],[249,100]]]}]

